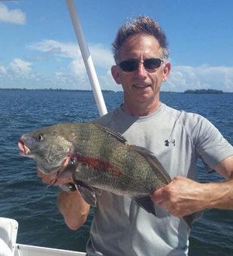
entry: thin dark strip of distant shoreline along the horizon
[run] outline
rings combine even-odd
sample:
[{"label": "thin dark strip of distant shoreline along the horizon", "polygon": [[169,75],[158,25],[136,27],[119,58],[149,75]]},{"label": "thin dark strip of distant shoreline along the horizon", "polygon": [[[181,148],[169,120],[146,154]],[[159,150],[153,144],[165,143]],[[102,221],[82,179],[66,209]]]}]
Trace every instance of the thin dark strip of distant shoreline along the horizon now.
[{"label": "thin dark strip of distant shoreline along the horizon", "polygon": [[[92,93],[92,90],[71,90],[71,89],[26,89],[26,88],[0,88],[0,90],[23,90],[23,91],[52,91],[52,92],[80,92],[80,93]],[[123,93],[123,91],[113,91],[113,90],[101,90],[102,93]],[[199,90],[186,90],[184,92],[171,92],[171,91],[161,91],[160,93],[183,93],[183,94],[228,94],[231,92],[223,92],[222,90],[213,89],[199,89]]]}]

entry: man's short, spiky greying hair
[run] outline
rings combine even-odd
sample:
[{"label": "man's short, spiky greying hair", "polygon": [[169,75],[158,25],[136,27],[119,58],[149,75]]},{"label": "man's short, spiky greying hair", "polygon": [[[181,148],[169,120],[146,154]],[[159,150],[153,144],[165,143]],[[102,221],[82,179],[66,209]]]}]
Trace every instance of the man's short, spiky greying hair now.
[{"label": "man's short, spiky greying hair", "polygon": [[168,41],[165,32],[159,26],[156,20],[147,16],[140,16],[132,20],[130,23],[126,21],[123,26],[120,27],[116,34],[116,38],[113,41],[113,57],[115,62],[120,60],[120,47],[122,47],[124,41],[131,35],[146,34],[152,35],[159,41],[161,49],[161,58],[167,60],[169,55]]}]

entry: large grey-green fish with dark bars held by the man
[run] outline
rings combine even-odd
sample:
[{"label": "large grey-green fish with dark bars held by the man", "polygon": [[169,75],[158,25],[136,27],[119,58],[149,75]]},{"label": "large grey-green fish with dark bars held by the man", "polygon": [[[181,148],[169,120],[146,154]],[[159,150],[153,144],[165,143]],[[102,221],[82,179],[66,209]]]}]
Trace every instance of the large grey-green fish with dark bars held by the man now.
[{"label": "large grey-green fish with dark bars held by the man", "polygon": [[[58,123],[26,133],[18,142],[20,155],[31,157],[44,174],[56,180],[73,178],[86,203],[97,205],[97,191],[131,197],[157,216],[151,195],[171,177],[147,148],[130,145],[120,134],[98,123]],[[56,183],[56,180],[51,185]],[[189,228],[198,212],[184,216]]]}]

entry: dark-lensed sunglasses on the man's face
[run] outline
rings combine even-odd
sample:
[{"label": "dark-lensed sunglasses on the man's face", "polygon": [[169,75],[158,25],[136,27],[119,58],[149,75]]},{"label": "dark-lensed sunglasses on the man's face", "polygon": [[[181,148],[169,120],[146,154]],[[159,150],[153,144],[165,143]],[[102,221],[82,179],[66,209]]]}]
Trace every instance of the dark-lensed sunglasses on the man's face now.
[{"label": "dark-lensed sunglasses on the man's face", "polygon": [[116,66],[120,66],[120,69],[123,69],[124,72],[133,72],[138,69],[139,63],[143,63],[144,68],[148,70],[158,69],[161,64],[164,62],[163,59],[153,58],[153,59],[145,59],[144,61],[138,60],[124,60],[117,64]]}]

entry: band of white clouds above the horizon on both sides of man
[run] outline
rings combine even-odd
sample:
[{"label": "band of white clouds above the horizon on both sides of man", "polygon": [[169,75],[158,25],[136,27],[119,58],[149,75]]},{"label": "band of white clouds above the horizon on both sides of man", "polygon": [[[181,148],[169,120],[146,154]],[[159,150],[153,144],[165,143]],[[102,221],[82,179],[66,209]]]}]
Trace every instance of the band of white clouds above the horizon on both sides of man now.
[{"label": "band of white clouds above the horizon on both sides of man", "polygon": [[[0,86],[90,90],[82,62],[82,59],[73,59],[68,69],[45,75],[35,72],[31,62],[14,59],[9,66],[0,66]],[[113,81],[110,70],[99,75],[98,81],[102,90],[122,90],[121,85]],[[162,90],[165,91],[183,92],[202,88],[233,92],[233,67],[174,66],[168,81],[162,84]]]}]

